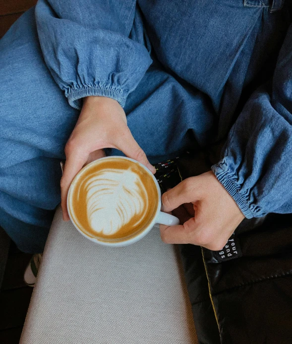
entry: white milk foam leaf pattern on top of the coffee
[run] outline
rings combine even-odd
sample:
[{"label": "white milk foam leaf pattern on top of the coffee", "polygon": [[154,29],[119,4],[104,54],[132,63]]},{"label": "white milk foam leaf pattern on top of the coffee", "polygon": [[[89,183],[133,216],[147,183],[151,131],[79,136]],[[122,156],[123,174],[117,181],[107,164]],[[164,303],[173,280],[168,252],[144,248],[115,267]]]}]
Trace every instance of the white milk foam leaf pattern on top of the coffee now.
[{"label": "white milk foam leaf pattern on top of the coffee", "polygon": [[137,173],[131,169],[93,173],[84,188],[88,223],[95,232],[112,235],[136,215],[137,221],[131,226],[138,225],[144,218],[148,208],[147,192]]}]

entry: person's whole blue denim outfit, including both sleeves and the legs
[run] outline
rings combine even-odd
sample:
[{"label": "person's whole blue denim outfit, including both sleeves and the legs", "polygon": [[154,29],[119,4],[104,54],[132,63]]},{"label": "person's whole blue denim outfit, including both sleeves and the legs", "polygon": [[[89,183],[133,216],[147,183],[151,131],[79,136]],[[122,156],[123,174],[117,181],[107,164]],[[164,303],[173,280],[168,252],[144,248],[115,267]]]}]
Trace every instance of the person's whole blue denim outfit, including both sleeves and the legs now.
[{"label": "person's whole blue denim outfit, including both sleeves and the legs", "polygon": [[89,95],[120,103],[152,163],[230,133],[213,171],[243,214],[292,212],[291,19],[274,2],[39,0],[27,11],[0,41],[0,225],[18,247],[44,247]]}]

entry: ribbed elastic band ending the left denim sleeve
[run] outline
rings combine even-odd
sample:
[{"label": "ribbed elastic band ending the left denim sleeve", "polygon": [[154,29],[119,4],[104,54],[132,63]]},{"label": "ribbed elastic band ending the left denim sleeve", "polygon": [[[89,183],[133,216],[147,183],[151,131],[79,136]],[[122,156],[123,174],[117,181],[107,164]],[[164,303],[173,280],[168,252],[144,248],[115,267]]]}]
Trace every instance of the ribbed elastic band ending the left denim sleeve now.
[{"label": "ribbed elastic band ending the left denim sleeve", "polygon": [[123,104],[126,100],[126,97],[122,97],[122,90],[116,90],[114,88],[105,88],[105,87],[84,87],[78,91],[68,92],[67,98],[69,103],[74,102],[80,98],[88,96],[101,96],[109,97],[117,100],[120,104]]}]

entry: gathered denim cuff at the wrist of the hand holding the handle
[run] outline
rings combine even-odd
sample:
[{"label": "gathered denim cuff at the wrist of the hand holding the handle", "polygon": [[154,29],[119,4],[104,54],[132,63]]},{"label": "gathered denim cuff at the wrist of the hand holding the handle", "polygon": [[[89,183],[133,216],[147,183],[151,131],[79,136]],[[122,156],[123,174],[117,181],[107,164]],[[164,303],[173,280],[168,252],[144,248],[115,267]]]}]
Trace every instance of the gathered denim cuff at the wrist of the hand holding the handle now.
[{"label": "gathered denim cuff at the wrist of the hand holding the handle", "polygon": [[240,195],[239,193],[239,185],[234,183],[229,177],[228,172],[223,172],[222,168],[218,165],[213,165],[211,167],[212,171],[214,172],[216,178],[220,181],[220,183],[224,186],[226,191],[231,195],[234,199],[235,203],[241,210],[242,214],[247,218],[253,218],[253,213],[249,209],[248,202]]}]

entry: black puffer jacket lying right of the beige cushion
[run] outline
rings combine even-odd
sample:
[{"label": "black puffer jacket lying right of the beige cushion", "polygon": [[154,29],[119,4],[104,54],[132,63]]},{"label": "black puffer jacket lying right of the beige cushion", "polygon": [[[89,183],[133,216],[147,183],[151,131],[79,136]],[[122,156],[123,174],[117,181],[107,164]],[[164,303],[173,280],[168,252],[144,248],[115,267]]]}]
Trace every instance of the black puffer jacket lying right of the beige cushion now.
[{"label": "black puffer jacket lying right of the beige cushion", "polygon": [[[220,150],[186,153],[182,178],[210,171]],[[292,214],[244,219],[222,251],[179,251],[200,344],[292,344]]]}]

